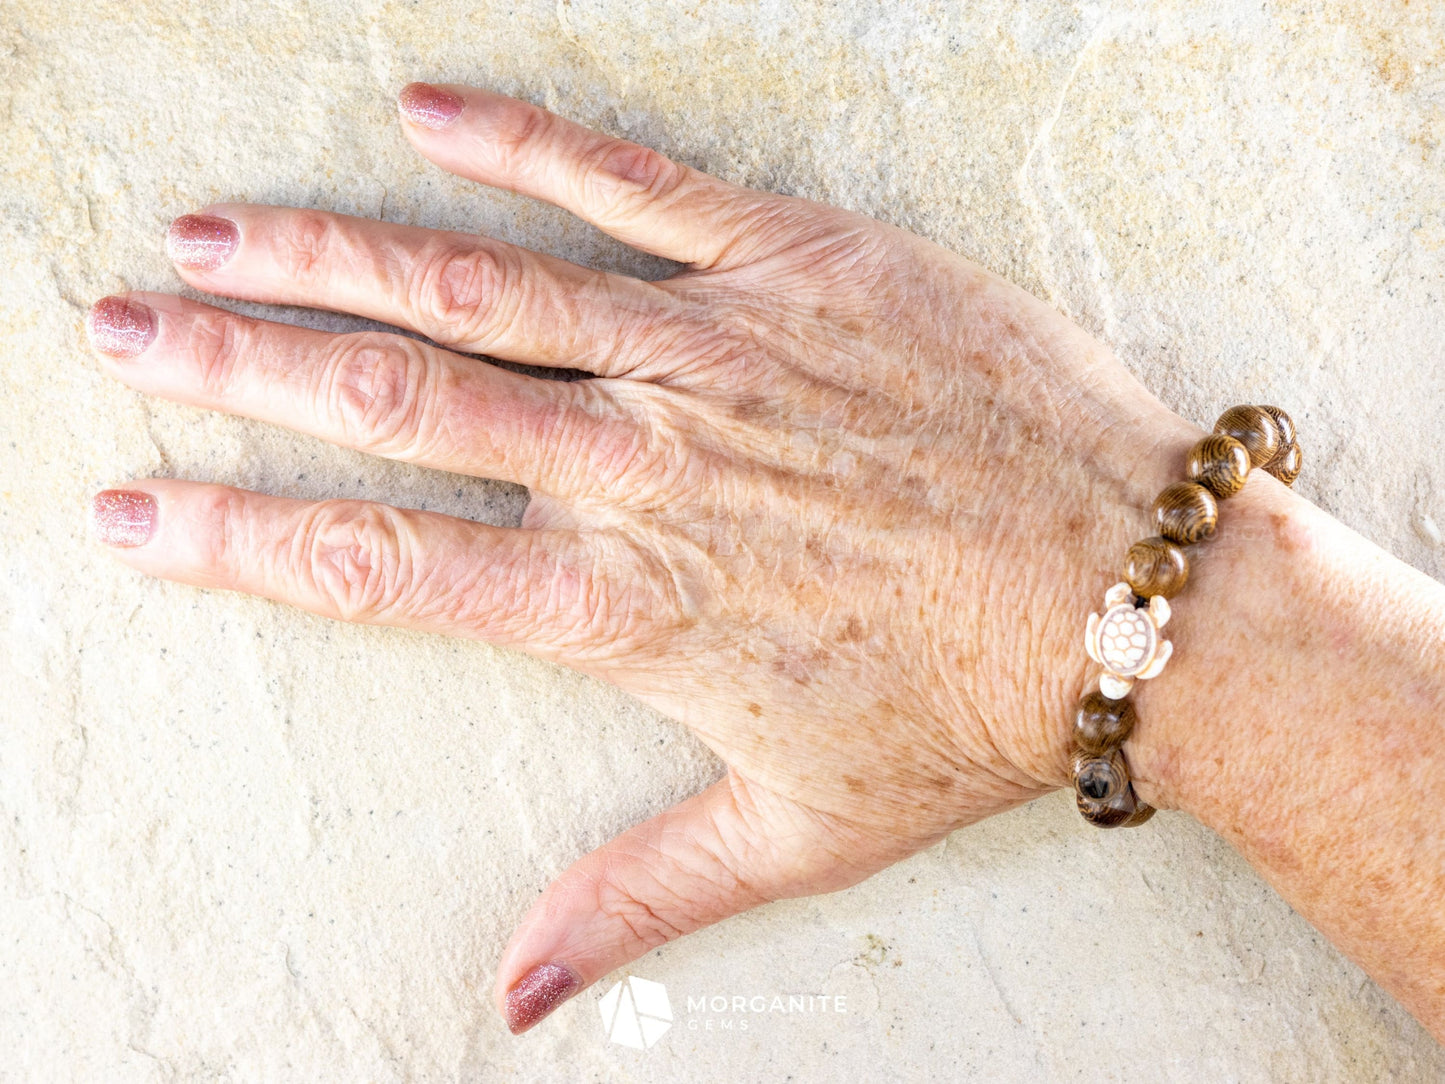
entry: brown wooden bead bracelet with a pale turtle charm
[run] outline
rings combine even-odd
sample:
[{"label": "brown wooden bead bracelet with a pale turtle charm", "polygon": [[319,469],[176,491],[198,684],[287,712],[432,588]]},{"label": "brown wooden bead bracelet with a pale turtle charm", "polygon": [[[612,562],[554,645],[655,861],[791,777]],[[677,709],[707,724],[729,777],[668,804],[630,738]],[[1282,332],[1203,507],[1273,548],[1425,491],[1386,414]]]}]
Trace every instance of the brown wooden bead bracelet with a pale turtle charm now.
[{"label": "brown wooden bead bracelet with a pale turtle charm", "polygon": [[1218,500],[1238,493],[1254,467],[1286,486],[1299,477],[1295,423],[1277,406],[1231,406],[1220,415],[1214,432],[1189,449],[1189,481],[1166,486],[1155,499],[1159,533],[1129,548],[1124,580],[1104,593],[1104,613],[1088,617],[1084,648],[1104,672],[1074,715],[1072,776],[1090,824],[1133,828],[1155,815],[1134,795],[1124,763],[1123,744],[1137,718],[1129,689],[1156,676],[1173,652],[1159,630],[1169,620],[1169,598],[1189,578],[1181,546],[1214,538]]}]

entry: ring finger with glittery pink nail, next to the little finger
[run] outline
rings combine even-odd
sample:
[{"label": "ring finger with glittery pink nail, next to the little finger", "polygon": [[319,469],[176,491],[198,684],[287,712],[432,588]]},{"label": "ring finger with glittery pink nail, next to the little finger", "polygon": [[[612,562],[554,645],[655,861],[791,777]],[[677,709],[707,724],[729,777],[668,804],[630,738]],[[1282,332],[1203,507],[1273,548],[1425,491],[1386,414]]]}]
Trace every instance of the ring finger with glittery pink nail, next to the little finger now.
[{"label": "ring finger with glittery pink nail, next to the little finger", "polygon": [[353,312],[457,350],[597,376],[656,371],[681,308],[642,279],[490,237],[290,207],[181,215],[166,250],[208,293]]}]

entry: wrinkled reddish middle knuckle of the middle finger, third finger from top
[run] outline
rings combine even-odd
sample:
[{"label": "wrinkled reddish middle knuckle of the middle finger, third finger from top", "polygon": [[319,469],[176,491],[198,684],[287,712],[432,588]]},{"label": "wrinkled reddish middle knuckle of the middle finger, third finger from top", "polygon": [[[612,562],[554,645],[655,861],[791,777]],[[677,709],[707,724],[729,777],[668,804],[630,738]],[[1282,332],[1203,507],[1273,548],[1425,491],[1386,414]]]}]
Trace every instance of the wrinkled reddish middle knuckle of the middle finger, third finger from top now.
[{"label": "wrinkled reddish middle knuckle of the middle finger, third finger from top", "polygon": [[425,444],[436,380],[422,347],[399,335],[338,335],[316,397],[353,447],[413,455]]}]

